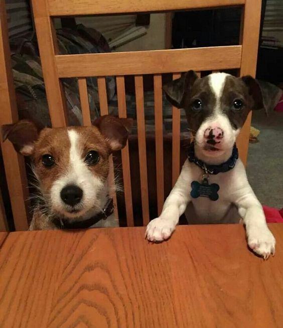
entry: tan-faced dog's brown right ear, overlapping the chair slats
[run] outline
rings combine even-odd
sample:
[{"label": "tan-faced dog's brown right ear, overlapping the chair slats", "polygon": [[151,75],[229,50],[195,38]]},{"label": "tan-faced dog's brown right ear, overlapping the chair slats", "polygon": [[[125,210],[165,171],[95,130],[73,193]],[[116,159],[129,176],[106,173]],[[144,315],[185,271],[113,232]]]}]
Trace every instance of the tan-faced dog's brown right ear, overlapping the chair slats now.
[{"label": "tan-faced dog's brown right ear, overlapping the chair slats", "polygon": [[93,125],[96,126],[107,140],[112,151],[122,149],[131,131],[132,118],[118,118],[112,115],[98,117]]}]

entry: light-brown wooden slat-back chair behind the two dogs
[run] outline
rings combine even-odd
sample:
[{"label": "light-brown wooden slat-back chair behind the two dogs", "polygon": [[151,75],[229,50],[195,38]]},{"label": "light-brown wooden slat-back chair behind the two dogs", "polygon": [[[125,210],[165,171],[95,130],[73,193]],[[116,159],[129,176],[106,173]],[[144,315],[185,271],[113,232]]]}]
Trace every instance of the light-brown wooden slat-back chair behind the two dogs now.
[{"label": "light-brown wooden slat-back chair behind the two dogs", "polygon": [[[55,17],[72,17],[79,15],[110,15],[125,13],[169,12],[177,10],[195,10],[226,6],[242,7],[241,41],[236,46],[193,48],[180,50],[157,50],[123,53],[59,55],[53,19]],[[193,69],[197,72],[205,70],[238,69],[240,75],[255,75],[261,1],[259,0],[144,0],[131,2],[128,0],[33,0],[32,7],[35,18],[41,63],[46,85],[47,99],[52,125],[66,126],[67,113],[65,96],[61,78],[78,78],[83,124],[89,125],[90,113],[87,94],[86,77],[97,77],[101,115],[108,113],[105,76],[115,76],[118,97],[118,113],[126,117],[125,75],[134,75],[137,115],[137,138],[139,161],[146,162],[146,129],[144,112],[143,75],[154,74],[155,100],[155,136],[156,136],[156,168],[158,212],[164,203],[164,171],[163,171],[163,110],[162,110],[162,74],[173,73],[178,78],[181,72]],[[9,107],[11,112],[13,108]],[[11,113],[9,113],[11,115]],[[173,154],[172,183],[180,172],[180,112],[172,108],[173,116]],[[15,120],[16,116],[7,120]],[[237,140],[240,156],[246,162],[251,115]],[[11,147],[11,145],[5,145]],[[7,153],[5,155],[7,159]],[[20,159],[15,152],[10,156],[17,158],[13,169],[7,168],[8,180],[11,171],[20,167]],[[126,146],[121,152],[122,173],[127,225],[133,226],[133,210],[131,197],[131,179],[129,149]],[[9,176],[10,174],[10,176]],[[14,179],[14,177],[13,177]],[[113,167],[111,177],[113,179]],[[142,194],[143,223],[149,220],[148,173],[146,166],[140,166],[140,187]],[[13,208],[14,208],[13,204]],[[20,220],[15,212],[15,220]],[[19,213],[18,213],[19,214]],[[25,225],[23,225],[25,226]],[[19,227],[19,226],[18,226]]]}]

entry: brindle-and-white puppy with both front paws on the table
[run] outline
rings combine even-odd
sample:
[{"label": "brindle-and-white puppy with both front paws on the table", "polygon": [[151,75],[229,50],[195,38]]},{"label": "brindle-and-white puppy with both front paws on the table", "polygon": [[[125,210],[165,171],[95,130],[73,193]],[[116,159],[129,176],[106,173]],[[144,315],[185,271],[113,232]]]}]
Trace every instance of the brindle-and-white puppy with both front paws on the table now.
[{"label": "brindle-and-white puppy with both front paws on the table", "polygon": [[[263,258],[273,255],[275,239],[234,146],[249,111],[262,107],[258,84],[250,76],[214,73],[198,78],[189,71],[164,90],[174,106],[185,109],[194,145],[160,217],[149,223],[146,238],[168,239],[185,211],[192,224],[237,223],[242,218],[248,246]],[[202,189],[196,189],[200,184]]]}]

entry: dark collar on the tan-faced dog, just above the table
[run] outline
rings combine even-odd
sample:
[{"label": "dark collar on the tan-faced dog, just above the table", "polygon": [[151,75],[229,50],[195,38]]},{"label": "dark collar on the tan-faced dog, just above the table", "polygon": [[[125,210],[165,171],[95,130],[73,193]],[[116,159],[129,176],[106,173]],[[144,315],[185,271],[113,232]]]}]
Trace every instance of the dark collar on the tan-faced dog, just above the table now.
[{"label": "dark collar on the tan-faced dog, just above the table", "polygon": [[70,222],[69,220],[66,219],[56,218],[53,220],[53,223],[59,229],[86,229],[91,227],[101,219],[103,220],[107,219],[108,216],[110,216],[113,213],[113,211],[114,211],[113,199],[109,198],[104,206],[104,209],[87,220]]}]

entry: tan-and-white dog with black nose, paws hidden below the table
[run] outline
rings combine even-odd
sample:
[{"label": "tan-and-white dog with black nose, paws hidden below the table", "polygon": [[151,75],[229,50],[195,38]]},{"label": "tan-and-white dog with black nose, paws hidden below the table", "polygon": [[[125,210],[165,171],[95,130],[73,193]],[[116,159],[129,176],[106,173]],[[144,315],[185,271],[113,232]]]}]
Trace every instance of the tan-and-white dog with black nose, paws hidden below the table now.
[{"label": "tan-and-white dog with black nose, paws hidden below the table", "polygon": [[3,139],[31,156],[38,180],[30,230],[118,225],[109,202],[108,157],[125,146],[131,125],[131,119],[106,115],[88,127],[38,131],[29,120],[2,127]]}]

